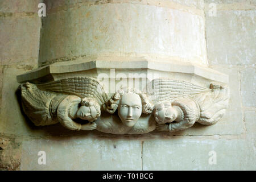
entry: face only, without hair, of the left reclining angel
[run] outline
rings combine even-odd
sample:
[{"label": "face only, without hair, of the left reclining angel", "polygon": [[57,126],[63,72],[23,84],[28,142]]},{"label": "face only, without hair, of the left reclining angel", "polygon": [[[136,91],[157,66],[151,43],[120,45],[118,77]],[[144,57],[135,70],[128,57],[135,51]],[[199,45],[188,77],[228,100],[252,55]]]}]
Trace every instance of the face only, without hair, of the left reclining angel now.
[{"label": "face only, without hair, of the left reclining angel", "polygon": [[99,117],[98,109],[95,106],[81,106],[79,110],[77,110],[77,117],[80,119],[88,120],[89,122],[93,122]]}]

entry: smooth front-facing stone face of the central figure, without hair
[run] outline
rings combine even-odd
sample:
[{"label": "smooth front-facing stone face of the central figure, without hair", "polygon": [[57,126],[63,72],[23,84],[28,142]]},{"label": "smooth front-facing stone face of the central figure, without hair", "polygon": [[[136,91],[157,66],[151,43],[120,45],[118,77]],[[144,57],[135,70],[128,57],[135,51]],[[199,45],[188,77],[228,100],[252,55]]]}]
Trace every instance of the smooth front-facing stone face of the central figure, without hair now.
[{"label": "smooth front-facing stone face of the central figure, without hair", "polygon": [[126,93],[122,96],[118,105],[118,115],[122,123],[132,127],[141,117],[142,102],[141,97],[135,93]]}]

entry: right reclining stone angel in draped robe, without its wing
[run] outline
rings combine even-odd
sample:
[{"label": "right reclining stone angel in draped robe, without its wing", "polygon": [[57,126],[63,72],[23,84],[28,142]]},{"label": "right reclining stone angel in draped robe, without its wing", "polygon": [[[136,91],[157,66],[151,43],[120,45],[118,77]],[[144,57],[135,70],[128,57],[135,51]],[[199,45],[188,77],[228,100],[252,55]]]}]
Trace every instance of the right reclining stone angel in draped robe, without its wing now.
[{"label": "right reclining stone angel in draped robe, without its wing", "polygon": [[156,105],[156,129],[174,132],[187,129],[195,122],[203,125],[218,122],[228,107],[229,89],[214,84],[210,88],[210,92],[191,94],[189,97]]}]

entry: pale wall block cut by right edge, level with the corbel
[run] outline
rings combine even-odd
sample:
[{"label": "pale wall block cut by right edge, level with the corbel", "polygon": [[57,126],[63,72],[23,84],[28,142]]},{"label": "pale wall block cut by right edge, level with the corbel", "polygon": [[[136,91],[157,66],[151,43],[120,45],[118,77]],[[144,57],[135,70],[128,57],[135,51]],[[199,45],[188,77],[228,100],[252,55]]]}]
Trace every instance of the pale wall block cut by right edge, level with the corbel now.
[{"label": "pale wall block cut by right edge, level with the corbel", "polygon": [[243,106],[256,107],[256,74],[255,67],[241,71],[241,95]]}]

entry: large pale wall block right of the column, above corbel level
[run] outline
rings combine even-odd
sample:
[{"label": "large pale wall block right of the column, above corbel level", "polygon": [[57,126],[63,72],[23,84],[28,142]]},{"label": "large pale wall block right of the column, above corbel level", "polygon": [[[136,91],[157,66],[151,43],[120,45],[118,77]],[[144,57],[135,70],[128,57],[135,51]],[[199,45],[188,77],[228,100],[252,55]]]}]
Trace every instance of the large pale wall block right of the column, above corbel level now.
[{"label": "large pale wall block right of the column, above corbel level", "polygon": [[[217,6],[218,7],[218,6]],[[216,17],[205,11],[208,59],[212,65],[255,63],[255,10],[221,11]]]}]

